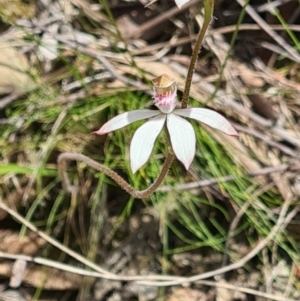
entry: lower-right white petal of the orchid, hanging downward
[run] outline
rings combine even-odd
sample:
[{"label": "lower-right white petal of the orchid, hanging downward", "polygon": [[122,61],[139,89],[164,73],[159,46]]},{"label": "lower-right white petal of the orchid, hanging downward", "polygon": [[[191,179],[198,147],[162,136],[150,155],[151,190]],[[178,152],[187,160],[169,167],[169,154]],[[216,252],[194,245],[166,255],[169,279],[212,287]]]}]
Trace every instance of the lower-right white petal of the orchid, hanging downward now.
[{"label": "lower-right white petal of the orchid, hanging downward", "polygon": [[167,127],[173,151],[188,170],[195,157],[195,131],[188,121],[174,114],[168,114]]}]

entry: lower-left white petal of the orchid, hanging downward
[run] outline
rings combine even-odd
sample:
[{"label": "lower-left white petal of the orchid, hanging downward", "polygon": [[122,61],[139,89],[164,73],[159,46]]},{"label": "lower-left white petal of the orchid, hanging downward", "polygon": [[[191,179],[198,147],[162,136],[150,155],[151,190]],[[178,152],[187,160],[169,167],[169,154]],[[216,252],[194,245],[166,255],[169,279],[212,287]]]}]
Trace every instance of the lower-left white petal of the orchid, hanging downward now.
[{"label": "lower-left white petal of the orchid, hanging downward", "polygon": [[130,165],[135,173],[149,159],[154,142],[165,123],[166,115],[160,114],[137,129],[130,144]]}]

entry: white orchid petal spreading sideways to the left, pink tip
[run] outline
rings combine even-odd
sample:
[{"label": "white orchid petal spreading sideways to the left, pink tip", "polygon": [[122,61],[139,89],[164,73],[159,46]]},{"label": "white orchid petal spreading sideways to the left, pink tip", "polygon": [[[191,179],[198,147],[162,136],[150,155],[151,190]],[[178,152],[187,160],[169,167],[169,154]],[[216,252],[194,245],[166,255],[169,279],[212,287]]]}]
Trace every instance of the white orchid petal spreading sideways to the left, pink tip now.
[{"label": "white orchid petal spreading sideways to the left, pink tip", "polygon": [[159,114],[161,114],[159,110],[135,110],[125,112],[110,119],[98,131],[95,131],[94,134],[104,135],[106,133],[118,130],[135,121],[157,116]]}]

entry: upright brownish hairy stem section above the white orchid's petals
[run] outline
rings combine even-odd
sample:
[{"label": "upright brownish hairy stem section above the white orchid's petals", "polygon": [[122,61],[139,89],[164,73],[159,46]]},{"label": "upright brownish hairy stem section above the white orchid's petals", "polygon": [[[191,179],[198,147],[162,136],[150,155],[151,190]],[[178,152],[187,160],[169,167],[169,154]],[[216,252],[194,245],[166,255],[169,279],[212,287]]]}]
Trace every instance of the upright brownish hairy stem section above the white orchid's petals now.
[{"label": "upright brownish hairy stem section above the white orchid's petals", "polygon": [[206,33],[206,31],[209,27],[210,21],[212,19],[213,7],[214,7],[214,0],[204,1],[204,21],[203,21],[202,28],[199,31],[199,35],[198,35],[196,43],[195,43],[195,47],[194,47],[194,50],[192,53],[192,57],[191,57],[191,61],[190,61],[189,69],[188,69],[188,73],[186,76],[182,103],[181,103],[182,109],[185,109],[188,105],[190,89],[191,89],[191,84],[192,84],[192,79],[193,79],[196,62],[198,59],[198,54],[200,52],[205,33]]}]

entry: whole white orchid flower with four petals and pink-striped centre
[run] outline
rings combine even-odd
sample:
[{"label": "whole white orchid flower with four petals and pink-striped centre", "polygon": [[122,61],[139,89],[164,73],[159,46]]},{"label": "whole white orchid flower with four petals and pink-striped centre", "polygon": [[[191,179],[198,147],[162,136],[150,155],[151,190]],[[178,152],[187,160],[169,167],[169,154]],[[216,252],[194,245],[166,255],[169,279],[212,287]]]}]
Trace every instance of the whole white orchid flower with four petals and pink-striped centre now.
[{"label": "whole white orchid flower with four petals and pink-striped centre", "polygon": [[135,173],[149,159],[154,142],[165,123],[169,132],[175,156],[188,170],[196,151],[196,135],[192,125],[182,117],[188,117],[218,129],[230,136],[238,136],[233,126],[220,114],[209,109],[175,109],[177,87],[175,81],[162,75],[152,81],[154,85],[154,104],[159,110],[134,110],[120,114],[98,131],[97,135],[123,128],[135,121],[150,118],[137,129],[130,144],[130,165]]}]

